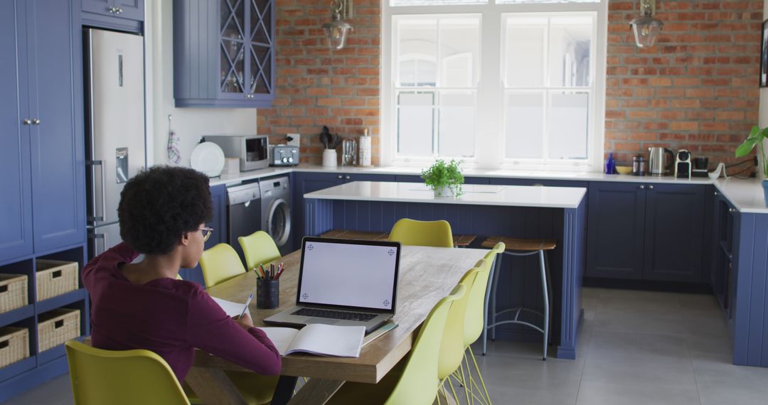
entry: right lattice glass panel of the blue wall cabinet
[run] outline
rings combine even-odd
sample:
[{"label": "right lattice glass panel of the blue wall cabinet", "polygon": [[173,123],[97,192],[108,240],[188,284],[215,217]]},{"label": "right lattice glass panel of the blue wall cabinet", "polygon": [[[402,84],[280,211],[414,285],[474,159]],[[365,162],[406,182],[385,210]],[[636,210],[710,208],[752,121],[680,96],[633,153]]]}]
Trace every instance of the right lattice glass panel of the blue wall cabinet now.
[{"label": "right lattice glass panel of the blue wall cabinet", "polygon": [[250,70],[248,91],[254,98],[273,98],[274,20],[275,0],[247,0],[250,2]]}]

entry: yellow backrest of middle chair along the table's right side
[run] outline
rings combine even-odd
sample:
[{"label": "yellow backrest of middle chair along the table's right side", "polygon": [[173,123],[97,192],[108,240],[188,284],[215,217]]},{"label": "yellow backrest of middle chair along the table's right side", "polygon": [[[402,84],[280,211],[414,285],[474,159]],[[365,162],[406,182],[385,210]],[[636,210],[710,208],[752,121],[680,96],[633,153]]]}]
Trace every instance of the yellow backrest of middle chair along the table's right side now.
[{"label": "yellow backrest of middle chair along the table's right side", "polygon": [[464,324],[466,322],[468,292],[472,291],[472,284],[475,283],[479,272],[481,272],[480,268],[471,268],[458,282],[458,285],[464,286],[467,293],[462,298],[453,301],[448,312],[448,320],[445,321],[445,333],[442,335],[438,361],[437,375],[440,380],[453,374],[464,359]]}]

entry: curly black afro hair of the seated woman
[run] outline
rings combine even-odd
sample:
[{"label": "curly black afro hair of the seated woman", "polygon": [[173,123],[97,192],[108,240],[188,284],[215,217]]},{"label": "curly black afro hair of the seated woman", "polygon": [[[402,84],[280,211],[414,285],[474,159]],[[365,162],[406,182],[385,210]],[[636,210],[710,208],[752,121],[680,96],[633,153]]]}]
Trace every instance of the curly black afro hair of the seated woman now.
[{"label": "curly black afro hair of the seated woman", "polygon": [[162,255],[214,215],[208,177],[184,167],[153,166],[120,193],[120,236],[137,252]]}]

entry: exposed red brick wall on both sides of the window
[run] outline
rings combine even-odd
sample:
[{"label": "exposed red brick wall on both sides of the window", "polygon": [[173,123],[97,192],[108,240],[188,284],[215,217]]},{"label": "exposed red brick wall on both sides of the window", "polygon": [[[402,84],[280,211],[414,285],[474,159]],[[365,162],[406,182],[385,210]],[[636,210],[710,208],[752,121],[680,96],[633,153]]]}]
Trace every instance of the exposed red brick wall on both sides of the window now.
[{"label": "exposed red brick wall on both sides of the window", "polygon": [[[370,127],[378,163],[381,7],[354,6],[348,48],[330,51],[327,2],[277,0],[277,97],[258,111],[258,132],[271,142],[301,133],[303,163],[320,162],[323,125],[346,137]],[[637,0],[611,0],[609,10],[606,152],[628,162],[664,146],[710,156],[710,166],[733,161],[757,123],[763,0],[659,0],[664,29],[647,50],[629,30]]]}]

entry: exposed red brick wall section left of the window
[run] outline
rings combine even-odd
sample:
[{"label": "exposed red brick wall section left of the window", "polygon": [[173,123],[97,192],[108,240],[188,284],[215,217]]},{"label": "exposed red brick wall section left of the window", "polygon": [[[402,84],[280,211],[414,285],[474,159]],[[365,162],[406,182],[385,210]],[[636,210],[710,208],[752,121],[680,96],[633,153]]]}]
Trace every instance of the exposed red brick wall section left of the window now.
[{"label": "exposed red brick wall section left of the window", "polygon": [[257,112],[258,133],[270,143],[301,134],[302,163],[320,163],[323,125],[342,137],[372,130],[379,160],[380,0],[355,0],[347,46],[331,51],[323,38],[330,2],[277,0],[276,99]]}]

